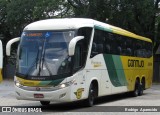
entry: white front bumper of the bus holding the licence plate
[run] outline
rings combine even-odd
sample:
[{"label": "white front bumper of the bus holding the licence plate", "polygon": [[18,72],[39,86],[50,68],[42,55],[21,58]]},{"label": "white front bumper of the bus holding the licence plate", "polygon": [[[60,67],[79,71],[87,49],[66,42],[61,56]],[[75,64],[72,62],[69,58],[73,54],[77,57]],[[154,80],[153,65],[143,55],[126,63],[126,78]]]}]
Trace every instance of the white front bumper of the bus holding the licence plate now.
[{"label": "white front bumper of the bus holding the licence plate", "polygon": [[37,90],[39,91],[24,90],[15,85],[16,98],[18,100],[55,101],[55,102],[72,101],[70,86],[54,91],[41,91],[40,89]]}]

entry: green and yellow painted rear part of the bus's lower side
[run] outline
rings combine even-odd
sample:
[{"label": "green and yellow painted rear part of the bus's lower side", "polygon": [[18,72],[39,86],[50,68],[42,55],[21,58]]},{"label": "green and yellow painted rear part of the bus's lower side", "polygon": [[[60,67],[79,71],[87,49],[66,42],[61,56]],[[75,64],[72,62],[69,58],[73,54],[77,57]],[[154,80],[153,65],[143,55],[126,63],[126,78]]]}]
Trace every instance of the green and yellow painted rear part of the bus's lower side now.
[{"label": "green and yellow painted rear part of the bus's lower side", "polygon": [[104,55],[110,80],[115,87],[127,86],[133,91],[136,78],[145,77],[145,88],[152,85],[153,58]]}]

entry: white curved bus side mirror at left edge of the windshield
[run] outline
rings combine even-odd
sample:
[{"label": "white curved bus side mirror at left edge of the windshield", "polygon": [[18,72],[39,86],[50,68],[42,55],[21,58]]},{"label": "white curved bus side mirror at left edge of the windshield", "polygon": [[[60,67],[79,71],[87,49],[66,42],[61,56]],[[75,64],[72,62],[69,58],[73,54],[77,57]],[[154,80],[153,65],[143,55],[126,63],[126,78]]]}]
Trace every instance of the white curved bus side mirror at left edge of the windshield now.
[{"label": "white curved bus side mirror at left edge of the windshield", "polygon": [[20,40],[20,37],[17,38],[13,38],[10,41],[8,41],[7,45],[6,45],[6,55],[10,56],[11,55],[11,45],[15,42],[18,42]]}]

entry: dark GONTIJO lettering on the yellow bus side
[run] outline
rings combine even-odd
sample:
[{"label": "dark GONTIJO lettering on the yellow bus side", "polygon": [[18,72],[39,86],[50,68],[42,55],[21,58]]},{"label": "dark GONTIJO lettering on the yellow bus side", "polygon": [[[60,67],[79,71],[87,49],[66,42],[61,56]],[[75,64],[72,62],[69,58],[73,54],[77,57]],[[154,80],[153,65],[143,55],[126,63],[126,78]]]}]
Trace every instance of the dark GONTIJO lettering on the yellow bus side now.
[{"label": "dark GONTIJO lettering on the yellow bus side", "polygon": [[128,67],[144,67],[144,60],[128,60]]}]

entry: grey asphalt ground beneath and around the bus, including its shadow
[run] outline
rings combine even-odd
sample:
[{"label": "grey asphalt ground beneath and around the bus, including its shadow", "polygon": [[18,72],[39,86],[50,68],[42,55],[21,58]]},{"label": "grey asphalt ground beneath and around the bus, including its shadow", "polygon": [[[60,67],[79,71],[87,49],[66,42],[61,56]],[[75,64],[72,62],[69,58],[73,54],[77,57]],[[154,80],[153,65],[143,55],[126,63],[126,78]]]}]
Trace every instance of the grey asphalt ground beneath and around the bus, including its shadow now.
[{"label": "grey asphalt ground beneath and around the bus, including its shadow", "polygon": [[[83,101],[73,103],[51,103],[49,106],[42,106],[37,101],[25,101],[17,100],[15,98],[15,92],[12,80],[4,80],[0,84],[0,106],[18,106],[18,107],[30,107],[41,108],[43,112],[51,113],[65,113],[82,114],[82,112],[110,112],[112,114],[120,114],[119,112],[141,112],[150,110],[157,115],[160,112],[160,84],[154,84],[150,89],[144,91],[143,96],[131,97],[127,94],[118,94],[112,96],[100,97],[96,100],[94,107],[85,107]],[[140,111],[142,109],[142,111]],[[94,113],[92,113],[94,114]],[[126,114],[126,113],[125,113]],[[145,115],[149,114],[148,112]]]}]

